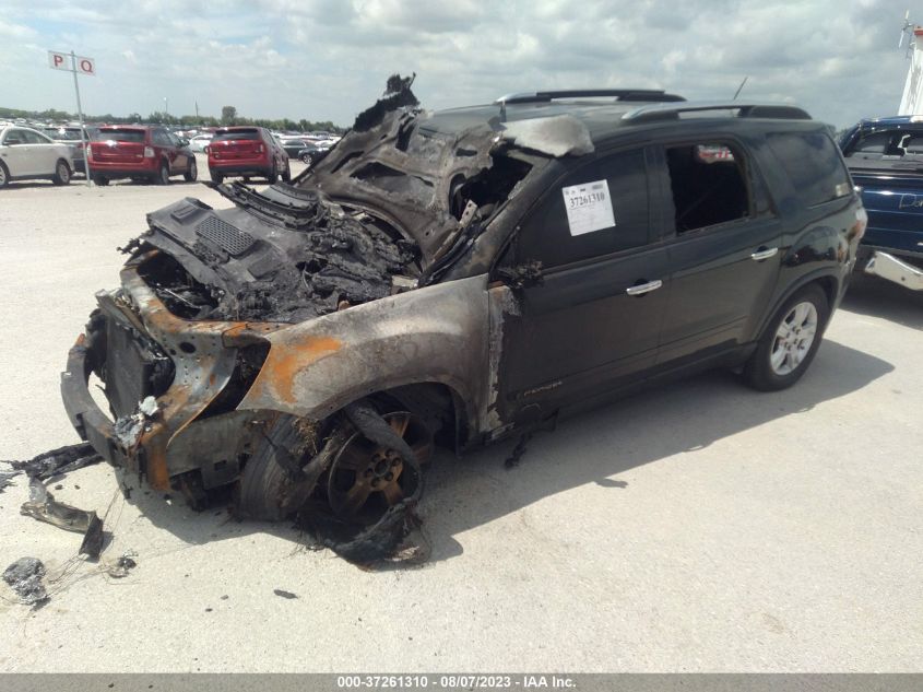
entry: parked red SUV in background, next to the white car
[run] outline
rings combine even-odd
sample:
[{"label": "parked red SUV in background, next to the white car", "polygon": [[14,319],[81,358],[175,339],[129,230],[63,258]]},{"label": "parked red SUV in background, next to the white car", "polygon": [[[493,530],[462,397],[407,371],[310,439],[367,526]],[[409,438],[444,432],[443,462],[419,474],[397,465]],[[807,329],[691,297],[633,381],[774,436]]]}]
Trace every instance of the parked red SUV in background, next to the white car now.
[{"label": "parked red SUV in background, next to the white car", "polygon": [[199,177],[196,154],[186,140],[156,126],[100,127],[90,142],[90,171],[96,185],[116,178],[168,185],[173,175],[189,183]]}]

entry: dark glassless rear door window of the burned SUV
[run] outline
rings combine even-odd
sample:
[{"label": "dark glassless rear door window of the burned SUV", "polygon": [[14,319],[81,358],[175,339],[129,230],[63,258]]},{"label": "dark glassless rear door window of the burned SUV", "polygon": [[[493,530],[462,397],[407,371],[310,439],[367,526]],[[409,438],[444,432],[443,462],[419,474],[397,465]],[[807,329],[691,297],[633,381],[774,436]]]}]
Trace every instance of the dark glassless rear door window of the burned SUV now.
[{"label": "dark glassless rear door window of the burned SUV", "polygon": [[721,142],[668,146],[666,164],[677,234],[750,215],[749,188],[737,148]]}]

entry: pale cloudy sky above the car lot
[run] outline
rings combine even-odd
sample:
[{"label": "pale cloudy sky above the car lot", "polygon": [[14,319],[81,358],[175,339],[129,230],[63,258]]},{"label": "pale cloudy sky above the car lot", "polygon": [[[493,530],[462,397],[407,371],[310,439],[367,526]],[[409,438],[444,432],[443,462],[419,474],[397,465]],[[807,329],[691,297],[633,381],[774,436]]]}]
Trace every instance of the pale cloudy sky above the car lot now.
[{"label": "pale cloudy sky above the car lot", "polygon": [[166,98],[173,115],[198,102],[348,126],[393,72],[416,72],[426,108],[578,87],[730,99],[746,77],[742,101],[843,128],[897,113],[907,9],[923,24],[923,7],[895,0],[3,0],[0,106],[75,112],[50,49],[95,58],[92,114],[146,116]]}]

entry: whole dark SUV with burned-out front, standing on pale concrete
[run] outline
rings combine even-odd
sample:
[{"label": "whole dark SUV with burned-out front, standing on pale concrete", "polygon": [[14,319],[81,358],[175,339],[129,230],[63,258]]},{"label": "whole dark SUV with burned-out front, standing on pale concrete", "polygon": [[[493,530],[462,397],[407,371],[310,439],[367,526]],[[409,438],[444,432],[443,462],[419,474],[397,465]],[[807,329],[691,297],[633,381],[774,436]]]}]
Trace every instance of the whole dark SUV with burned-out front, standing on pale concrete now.
[{"label": "whole dark SUV with burned-out front, standing on pale concrete", "polygon": [[[423,112],[409,81],[293,184],[149,215],[70,351],[81,436],[196,506],[380,526],[435,445],[636,385],[805,372],[865,213],[790,106],[546,92]],[[111,415],[87,380],[105,387]]]}]

